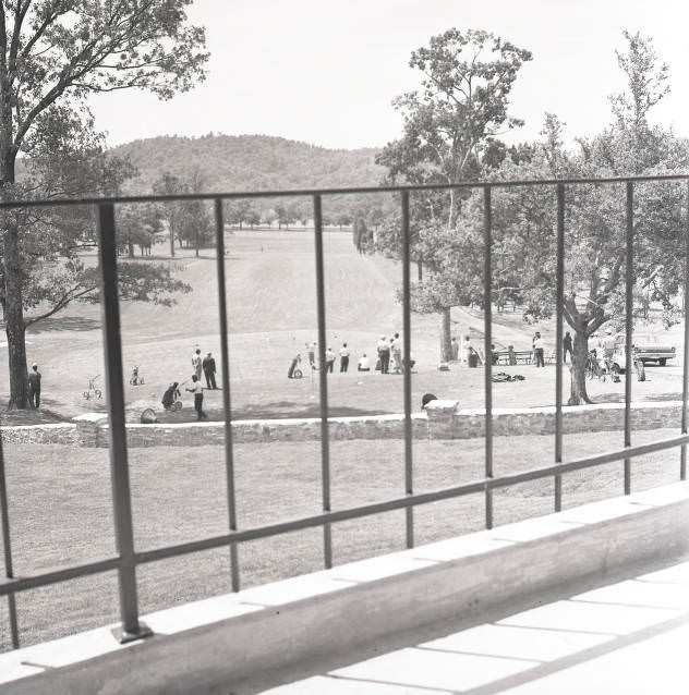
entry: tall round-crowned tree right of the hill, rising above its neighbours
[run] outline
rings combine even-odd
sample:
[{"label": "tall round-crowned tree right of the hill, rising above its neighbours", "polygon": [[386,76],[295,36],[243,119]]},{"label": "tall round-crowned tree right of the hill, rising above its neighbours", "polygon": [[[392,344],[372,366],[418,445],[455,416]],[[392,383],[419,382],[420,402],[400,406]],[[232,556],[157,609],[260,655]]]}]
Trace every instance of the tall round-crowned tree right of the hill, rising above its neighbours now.
[{"label": "tall round-crowned tree right of the hill, rising above its neighbours", "polygon": [[[409,64],[423,74],[421,89],[395,100],[404,119],[403,134],[376,159],[387,167],[388,181],[448,184],[475,176],[500,132],[522,124],[508,114],[508,96],[519,69],[529,60],[529,51],[473,29],[448,29],[413,51]],[[455,190],[447,195],[414,196],[412,258],[420,264],[420,276],[422,265],[430,270],[425,285],[418,290],[423,297],[416,308],[442,314],[444,359],[451,356],[450,307],[460,304],[464,293],[463,289],[452,292],[457,283],[438,281],[443,275],[438,261],[443,265],[444,257],[435,249],[461,235],[460,209],[461,195]],[[385,231],[378,246],[398,252],[399,240]]]}]

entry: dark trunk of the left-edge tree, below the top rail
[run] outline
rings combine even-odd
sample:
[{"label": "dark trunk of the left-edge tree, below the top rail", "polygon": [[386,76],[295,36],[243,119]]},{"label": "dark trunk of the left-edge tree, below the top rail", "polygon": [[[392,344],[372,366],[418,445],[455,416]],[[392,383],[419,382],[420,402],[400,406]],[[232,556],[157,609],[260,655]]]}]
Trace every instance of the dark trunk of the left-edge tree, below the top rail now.
[{"label": "dark trunk of the left-edge tree, below the top rail", "polygon": [[10,410],[27,410],[29,407],[19,232],[16,220],[8,216],[4,241],[4,291],[7,297],[4,320],[10,366],[10,402],[8,403]]}]

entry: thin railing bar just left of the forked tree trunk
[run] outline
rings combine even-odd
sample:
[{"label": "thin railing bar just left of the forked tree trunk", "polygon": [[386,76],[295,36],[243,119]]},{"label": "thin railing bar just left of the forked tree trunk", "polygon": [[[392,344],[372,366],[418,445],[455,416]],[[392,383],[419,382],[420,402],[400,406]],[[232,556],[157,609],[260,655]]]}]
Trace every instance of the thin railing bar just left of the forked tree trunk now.
[{"label": "thin railing bar just left of the forked tree trunk", "polygon": [[[557,184],[557,270],[555,293],[555,463],[563,463],[563,304],[565,302],[565,184]],[[570,355],[571,358],[571,355]],[[555,511],[563,509],[563,476],[555,476]]]}]

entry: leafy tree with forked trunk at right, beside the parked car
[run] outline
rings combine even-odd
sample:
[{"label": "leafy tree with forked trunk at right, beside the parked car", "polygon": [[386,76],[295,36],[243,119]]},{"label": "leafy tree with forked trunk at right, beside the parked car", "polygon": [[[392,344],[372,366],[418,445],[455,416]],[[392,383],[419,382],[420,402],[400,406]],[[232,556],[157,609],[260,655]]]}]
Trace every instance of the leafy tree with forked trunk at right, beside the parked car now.
[{"label": "leafy tree with forked trunk at right, beside the parked car", "polygon": [[[627,50],[618,52],[626,89],[612,98],[614,122],[600,135],[580,139],[580,151],[563,149],[560,124],[548,115],[529,162],[507,161],[499,178],[553,179],[684,173],[689,164],[686,143],[670,131],[649,123],[650,109],[667,93],[666,68],[658,65],[652,41],[625,32]],[[651,291],[663,300],[666,320],[676,309],[673,297],[684,276],[682,216],[685,186],[643,183],[634,186],[634,294]],[[494,197],[495,243],[521,249],[511,271],[520,279],[527,317],[552,316],[555,307],[555,195],[552,187],[512,187]],[[480,224],[476,214],[474,228]],[[494,246],[494,251],[495,251]],[[589,339],[604,325],[621,328],[625,320],[627,267],[625,187],[567,186],[566,275],[563,313],[572,329],[573,359],[569,403],[590,402],[585,386]],[[634,315],[639,308],[634,305]],[[627,317],[633,320],[632,317]]]}]

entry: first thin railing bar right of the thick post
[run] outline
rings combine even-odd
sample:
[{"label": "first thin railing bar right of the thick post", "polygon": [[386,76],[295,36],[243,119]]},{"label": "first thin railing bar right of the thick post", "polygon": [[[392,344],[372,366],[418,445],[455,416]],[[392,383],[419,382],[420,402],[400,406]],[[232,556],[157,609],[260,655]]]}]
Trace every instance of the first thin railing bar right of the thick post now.
[{"label": "first thin railing bar right of the thick post", "polygon": [[[218,312],[220,327],[220,367],[222,369],[222,412],[225,414],[225,477],[230,531],[237,531],[234,497],[234,449],[232,441],[232,403],[230,399],[230,349],[227,328],[227,290],[225,280],[225,219],[222,199],[215,199],[216,263],[218,275]],[[237,544],[230,546],[230,574],[232,590],[239,592],[239,557]]]}]

